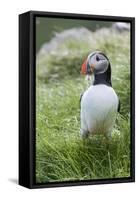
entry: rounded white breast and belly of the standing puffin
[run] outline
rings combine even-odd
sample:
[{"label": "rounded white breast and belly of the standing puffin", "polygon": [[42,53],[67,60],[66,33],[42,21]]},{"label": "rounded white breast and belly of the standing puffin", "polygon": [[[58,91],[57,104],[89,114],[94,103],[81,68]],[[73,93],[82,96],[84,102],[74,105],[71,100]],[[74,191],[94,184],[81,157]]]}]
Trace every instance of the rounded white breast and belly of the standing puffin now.
[{"label": "rounded white breast and belly of the standing puffin", "polygon": [[90,86],[81,99],[81,129],[84,132],[110,132],[115,122],[118,97],[112,87]]}]

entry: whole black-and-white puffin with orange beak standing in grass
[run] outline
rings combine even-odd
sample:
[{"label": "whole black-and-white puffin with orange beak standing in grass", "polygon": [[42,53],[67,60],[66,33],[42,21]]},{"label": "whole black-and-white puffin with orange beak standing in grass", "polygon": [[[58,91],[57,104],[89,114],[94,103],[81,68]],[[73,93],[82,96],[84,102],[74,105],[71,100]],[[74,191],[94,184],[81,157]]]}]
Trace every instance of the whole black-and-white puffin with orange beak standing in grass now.
[{"label": "whole black-and-white puffin with orange beak standing in grass", "polygon": [[82,138],[94,134],[110,137],[120,111],[120,100],[112,88],[108,57],[101,51],[90,53],[82,64],[81,74],[94,78],[80,97],[80,134]]}]

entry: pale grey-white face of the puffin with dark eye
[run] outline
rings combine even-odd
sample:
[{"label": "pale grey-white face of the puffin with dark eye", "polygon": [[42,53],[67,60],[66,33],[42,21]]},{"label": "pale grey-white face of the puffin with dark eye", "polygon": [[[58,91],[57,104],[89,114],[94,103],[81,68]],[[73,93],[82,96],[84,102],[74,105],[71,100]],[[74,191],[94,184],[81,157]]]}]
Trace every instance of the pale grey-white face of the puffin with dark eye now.
[{"label": "pale grey-white face of the puffin with dark eye", "polygon": [[87,58],[87,61],[90,67],[88,72],[90,70],[90,72],[94,74],[104,73],[109,65],[107,58],[100,54],[100,52],[90,54]]}]

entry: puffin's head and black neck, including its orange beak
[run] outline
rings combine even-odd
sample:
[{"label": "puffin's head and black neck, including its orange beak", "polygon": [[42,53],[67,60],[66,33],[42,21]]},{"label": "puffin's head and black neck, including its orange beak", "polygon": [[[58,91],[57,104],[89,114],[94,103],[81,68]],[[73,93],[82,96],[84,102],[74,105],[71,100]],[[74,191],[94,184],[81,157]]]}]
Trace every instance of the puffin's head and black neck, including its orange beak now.
[{"label": "puffin's head and black neck, including its orange beak", "polygon": [[96,51],[88,55],[87,59],[82,65],[82,74],[94,74],[94,85],[96,84],[111,84],[111,65],[107,56]]}]

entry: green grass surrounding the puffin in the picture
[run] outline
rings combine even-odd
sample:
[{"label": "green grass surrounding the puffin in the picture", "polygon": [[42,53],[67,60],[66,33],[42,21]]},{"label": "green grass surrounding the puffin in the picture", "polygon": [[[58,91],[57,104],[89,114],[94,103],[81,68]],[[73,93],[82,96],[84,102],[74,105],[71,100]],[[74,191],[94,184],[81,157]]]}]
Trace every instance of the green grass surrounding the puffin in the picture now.
[{"label": "green grass surrounding the puffin in the picture", "polygon": [[[130,176],[129,34],[106,31],[95,49],[106,50],[121,112],[110,141],[102,135],[80,137],[80,94],[87,83],[80,66],[95,50],[90,41],[67,41],[54,54],[38,57],[36,79],[36,181],[38,183]],[[122,47],[123,46],[123,47]],[[68,51],[66,55],[64,51]]]}]

